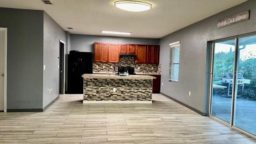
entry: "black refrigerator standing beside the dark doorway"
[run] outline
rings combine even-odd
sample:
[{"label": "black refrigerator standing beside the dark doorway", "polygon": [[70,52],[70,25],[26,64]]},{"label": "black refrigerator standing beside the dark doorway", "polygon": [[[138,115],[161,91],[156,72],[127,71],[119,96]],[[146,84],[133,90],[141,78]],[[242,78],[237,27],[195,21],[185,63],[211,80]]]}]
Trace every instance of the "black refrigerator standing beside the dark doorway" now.
[{"label": "black refrigerator standing beside the dark doorway", "polygon": [[83,74],[92,74],[92,52],[70,51],[68,55],[68,93],[83,94]]}]

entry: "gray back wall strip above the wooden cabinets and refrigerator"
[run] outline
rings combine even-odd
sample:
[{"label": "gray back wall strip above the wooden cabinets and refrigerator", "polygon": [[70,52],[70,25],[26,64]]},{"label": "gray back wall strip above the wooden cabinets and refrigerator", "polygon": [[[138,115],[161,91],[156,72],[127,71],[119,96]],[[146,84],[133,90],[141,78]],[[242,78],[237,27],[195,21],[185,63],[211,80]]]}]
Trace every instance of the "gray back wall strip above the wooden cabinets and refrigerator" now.
[{"label": "gray back wall strip above the wooden cabinets and refrigerator", "polygon": [[120,43],[120,44],[152,44],[157,45],[158,39],[153,38],[125,38],[113,36],[93,36],[82,34],[70,34],[70,50],[80,52],[93,52],[94,42]]}]

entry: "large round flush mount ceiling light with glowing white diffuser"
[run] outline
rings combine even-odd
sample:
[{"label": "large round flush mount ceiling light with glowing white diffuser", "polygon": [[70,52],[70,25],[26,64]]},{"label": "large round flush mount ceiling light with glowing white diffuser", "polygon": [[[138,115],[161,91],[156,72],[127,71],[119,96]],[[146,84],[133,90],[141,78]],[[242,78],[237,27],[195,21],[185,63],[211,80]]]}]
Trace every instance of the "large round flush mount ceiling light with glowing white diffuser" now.
[{"label": "large round flush mount ceiling light with glowing white diffuser", "polygon": [[114,2],[114,5],[117,8],[120,8],[122,10],[128,10],[131,12],[141,12],[145,10],[150,10],[152,8],[152,4],[150,3],[135,0],[120,0]]}]

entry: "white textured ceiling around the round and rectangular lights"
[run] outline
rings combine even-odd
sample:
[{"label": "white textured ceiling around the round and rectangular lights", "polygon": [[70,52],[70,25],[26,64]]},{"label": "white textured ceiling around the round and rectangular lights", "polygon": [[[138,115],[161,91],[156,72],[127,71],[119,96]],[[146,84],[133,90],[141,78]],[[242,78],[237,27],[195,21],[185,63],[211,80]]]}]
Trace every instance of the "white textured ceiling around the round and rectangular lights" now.
[{"label": "white textured ceiling around the round and rectangular lights", "polygon": [[128,37],[161,38],[246,0],[142,0],[153,5],[144,12],[118,9],[115,1],[51,0],[54,5],[47,5],[41,0],[0,0],[0,7],[44,10],[72,34],[114,36],[101,33],[107,30],[132,32]]}]

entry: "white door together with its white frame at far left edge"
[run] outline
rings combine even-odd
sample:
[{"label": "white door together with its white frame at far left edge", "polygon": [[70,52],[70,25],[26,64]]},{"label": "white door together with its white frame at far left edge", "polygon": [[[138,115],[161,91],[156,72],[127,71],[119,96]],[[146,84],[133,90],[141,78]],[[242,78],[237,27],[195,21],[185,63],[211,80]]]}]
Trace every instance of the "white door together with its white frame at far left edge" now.
[{"label": "white door together with its white frame at far left edge", "polygon": [[0,28],[0,112],[6,112],[7,28]]}]

